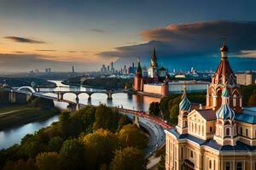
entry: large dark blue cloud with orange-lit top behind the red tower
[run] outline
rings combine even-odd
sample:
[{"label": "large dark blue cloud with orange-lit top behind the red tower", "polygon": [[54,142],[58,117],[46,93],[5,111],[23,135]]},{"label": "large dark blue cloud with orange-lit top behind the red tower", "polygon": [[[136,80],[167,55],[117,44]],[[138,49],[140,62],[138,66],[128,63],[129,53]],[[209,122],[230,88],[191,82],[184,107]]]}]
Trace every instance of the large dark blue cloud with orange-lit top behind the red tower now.
[{"label": "large dark blue cloud with orange-lit top behind the red tower", "polygon": [[[230,48],[230,55],[253,58],[255,54],[253,50],[256,49],[256,22],[222,20],[172,24],[142,31],[141,36],[148,42],[115,48],[113,51],[102,52],[99,55],[118,57],[116,63],[128,64],[132,58],[135,60],[137,57],[148,62],[155,47],[160,60],[165,63],[166,59],[174,63],[177,60],[181,62],[181,59],[186,59],[192,63],[191,65],[194,63],[198,65],[200,60],[211,61],[214,56],[215,58],[219,56],[219,48],[225,38]],[[247,54],[242,54],[242,52],[247,52]],[[177,65],[180,64],[177,63]]]}]

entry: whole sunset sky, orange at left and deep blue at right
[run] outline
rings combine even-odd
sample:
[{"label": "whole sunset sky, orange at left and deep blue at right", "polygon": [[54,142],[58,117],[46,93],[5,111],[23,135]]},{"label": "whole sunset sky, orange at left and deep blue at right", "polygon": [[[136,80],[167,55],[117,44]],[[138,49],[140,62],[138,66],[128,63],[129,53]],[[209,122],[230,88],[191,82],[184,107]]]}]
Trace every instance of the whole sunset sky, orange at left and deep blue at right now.
[{"label": "whole sunset sky, orange at left and deep blue at right", "polygon": [[[148,66],[214,69],[225,40],[234,70],[256,65],[253,0],[0,0],[0,71]],[[241,65],[242,64],[242,65]]]}]

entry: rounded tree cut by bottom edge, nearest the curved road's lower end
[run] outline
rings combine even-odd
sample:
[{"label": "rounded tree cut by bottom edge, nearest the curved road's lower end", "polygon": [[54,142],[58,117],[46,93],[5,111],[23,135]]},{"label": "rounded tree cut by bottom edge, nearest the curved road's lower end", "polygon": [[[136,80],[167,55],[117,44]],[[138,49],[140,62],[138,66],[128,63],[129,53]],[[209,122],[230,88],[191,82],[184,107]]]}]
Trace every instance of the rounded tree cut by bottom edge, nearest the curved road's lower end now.
[{"label": "rounded tree cut by bottom edge, nearest the curved road's lower end", "polygon": [[110,164],[111,170],[143,170],[147,169],[148,160],[143,152],[137,148],[127,147],[115,151],[115,156]]}]

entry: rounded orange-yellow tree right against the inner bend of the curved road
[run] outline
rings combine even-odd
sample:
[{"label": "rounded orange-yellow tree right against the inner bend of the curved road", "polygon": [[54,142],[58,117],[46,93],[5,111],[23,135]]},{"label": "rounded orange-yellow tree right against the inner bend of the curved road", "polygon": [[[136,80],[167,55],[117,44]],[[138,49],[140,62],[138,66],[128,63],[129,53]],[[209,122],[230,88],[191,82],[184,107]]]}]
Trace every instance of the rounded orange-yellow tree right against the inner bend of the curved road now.
[{"label": "rounded orange-yellow tree right against the inner bend of the curved road", "polygon": [[119,131],[119,141],[123,147],[134,146],[138,149],[147,147],[147,136],[136,125],[132,124],[125,125]]}]

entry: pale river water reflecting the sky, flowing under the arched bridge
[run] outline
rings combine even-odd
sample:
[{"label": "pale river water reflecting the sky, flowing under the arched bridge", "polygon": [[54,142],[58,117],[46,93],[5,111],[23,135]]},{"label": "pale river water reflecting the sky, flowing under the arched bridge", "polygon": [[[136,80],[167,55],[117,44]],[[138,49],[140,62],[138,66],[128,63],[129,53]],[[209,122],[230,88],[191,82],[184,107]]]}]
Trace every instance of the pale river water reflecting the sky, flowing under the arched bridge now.
[{"label": "pale river water reflecting the sky, flowing under the arched bridge", "polygon": [[[61,81],[50,81],[55,82],[56,88],[40,88],[41,92],[44,91],[99,91],[96,88],[84,88],[76,86],[67,86],[61,83]],[[49,96],[56,96],[56,94],[45,94]],[[113,99],[108,100],[107,94],[92,94],[91,105],[106,104],[108,106],[123,106],[125,109],[137,110],[137,111],[148,111],[148,106],[153,101],[160,101],[159,98],[131,95],[131,94],[113,94]],[[64,94],[64,99],[75,101],[76,95],[72,93]],[[87,105],[88,95],[79,94],[79,103]],[[55,101],[55,106],[61,109],[67,108],[67,103]],[[25,125],[17,127],[11,127],[0,131],[0,150],[9,148],[13,144],[20,144],[20,140],[27,133],[34,133],[42,127],[48,127],[51,123],[57,122],[58,116],[51,116],[48,119],[40,120],[38,122],[30,122]]]}]

